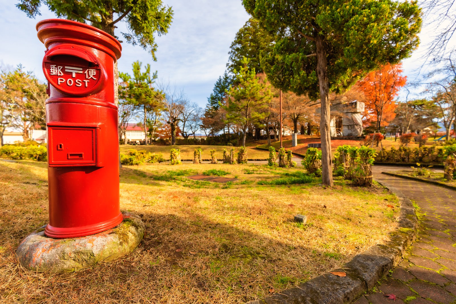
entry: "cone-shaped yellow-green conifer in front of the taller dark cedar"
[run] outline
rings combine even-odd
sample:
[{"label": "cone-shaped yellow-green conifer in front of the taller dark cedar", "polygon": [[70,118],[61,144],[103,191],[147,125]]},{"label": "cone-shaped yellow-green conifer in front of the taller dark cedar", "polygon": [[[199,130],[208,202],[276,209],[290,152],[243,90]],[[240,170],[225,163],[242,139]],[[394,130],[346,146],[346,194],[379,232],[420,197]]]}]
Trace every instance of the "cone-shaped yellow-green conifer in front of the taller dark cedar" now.
[{"label": "cone-shaped yellow-green conifer in front of the taller dark cedar", "polygon": [[228,100],[224,109],[226,120],[239,126],[242,131],[242,146],[245,146],[247,128],[258,124],[266,115],[263,108],[272,98],[272,93],[265,81],[256,77],[255,70],[249,70],[247,58],[244,57],[243,66],[236,71],[235,82],[228,92]]}]

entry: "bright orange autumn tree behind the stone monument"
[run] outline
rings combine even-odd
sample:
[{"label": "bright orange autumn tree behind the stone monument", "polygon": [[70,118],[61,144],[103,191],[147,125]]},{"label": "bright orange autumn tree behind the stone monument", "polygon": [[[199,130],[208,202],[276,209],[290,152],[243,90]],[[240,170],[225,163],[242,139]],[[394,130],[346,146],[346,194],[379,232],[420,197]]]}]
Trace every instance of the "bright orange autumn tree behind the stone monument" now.
[{"label": "bright orange autumn tree behind the stone monument", "polygon": [[402,63],[391,65],[389,63],[372,71],[358,82],[359,89],[365,96],[364,122],[371,125],[375,122],[376,131],[382,126],[388,126],[395,117],[394,110],[397,105],[394,97],[405,85],[406,76],[402,76]]}]

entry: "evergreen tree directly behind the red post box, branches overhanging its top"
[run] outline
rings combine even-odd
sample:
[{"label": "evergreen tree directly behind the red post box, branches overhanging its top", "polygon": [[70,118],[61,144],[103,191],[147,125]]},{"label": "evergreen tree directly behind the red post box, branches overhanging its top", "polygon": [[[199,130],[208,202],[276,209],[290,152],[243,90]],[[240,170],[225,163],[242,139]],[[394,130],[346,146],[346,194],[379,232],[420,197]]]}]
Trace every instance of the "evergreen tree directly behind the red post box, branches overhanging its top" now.
[{"label": "evergreen tree directly behind the red post box, branches overhanging its top", "polygon": [[[41,4],[46,5],[59,18],[90,23],[114,37],[116,24],[124,20],[128,28],[128,32],[121,32],[124,39],[133,45],[139,44],[150,52],[154,61],[157,50],[154,35],[165,35],[173,16],[172,8],[164,6],[161,0],[20,0],[16,6],[28,17],[35,18],[41,15]],[[117,105],[117,62],[114,74],[114,102]]]}]

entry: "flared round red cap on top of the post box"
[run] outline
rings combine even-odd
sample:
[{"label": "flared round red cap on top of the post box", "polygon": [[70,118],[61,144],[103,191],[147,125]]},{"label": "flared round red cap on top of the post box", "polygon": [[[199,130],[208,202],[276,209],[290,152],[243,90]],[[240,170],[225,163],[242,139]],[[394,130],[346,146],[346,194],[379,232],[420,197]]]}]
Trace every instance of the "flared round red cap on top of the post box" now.
[{"label": "flared round red cap on top of the post box", "polygon": [[72,43],[106,52],[114,62],[120,58],[120,42],[107,32],[85,23],[67,19],[46,19],[36,23],[36,31],[46,48],[52,43]]}]

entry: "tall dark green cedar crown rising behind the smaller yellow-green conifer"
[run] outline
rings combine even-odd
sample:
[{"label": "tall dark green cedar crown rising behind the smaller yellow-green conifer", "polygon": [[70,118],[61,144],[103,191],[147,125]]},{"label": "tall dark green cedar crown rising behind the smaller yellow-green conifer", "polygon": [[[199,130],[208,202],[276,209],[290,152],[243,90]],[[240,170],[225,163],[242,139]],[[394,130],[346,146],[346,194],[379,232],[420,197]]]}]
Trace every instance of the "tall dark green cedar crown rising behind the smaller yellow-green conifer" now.
[{"label": "tall dark green cedar crown rising behind the smaller yellow-green conifer", "polygon": [[249,59],[247,66],[255,69],[256,73],[263,73],[260,65],[260,52],[268,53],[272,50],[274,37],[259,25],[254,18],[250,18],[236,33],[231,43],[227,68],[231,73],[242,67],[242,59]]}]

